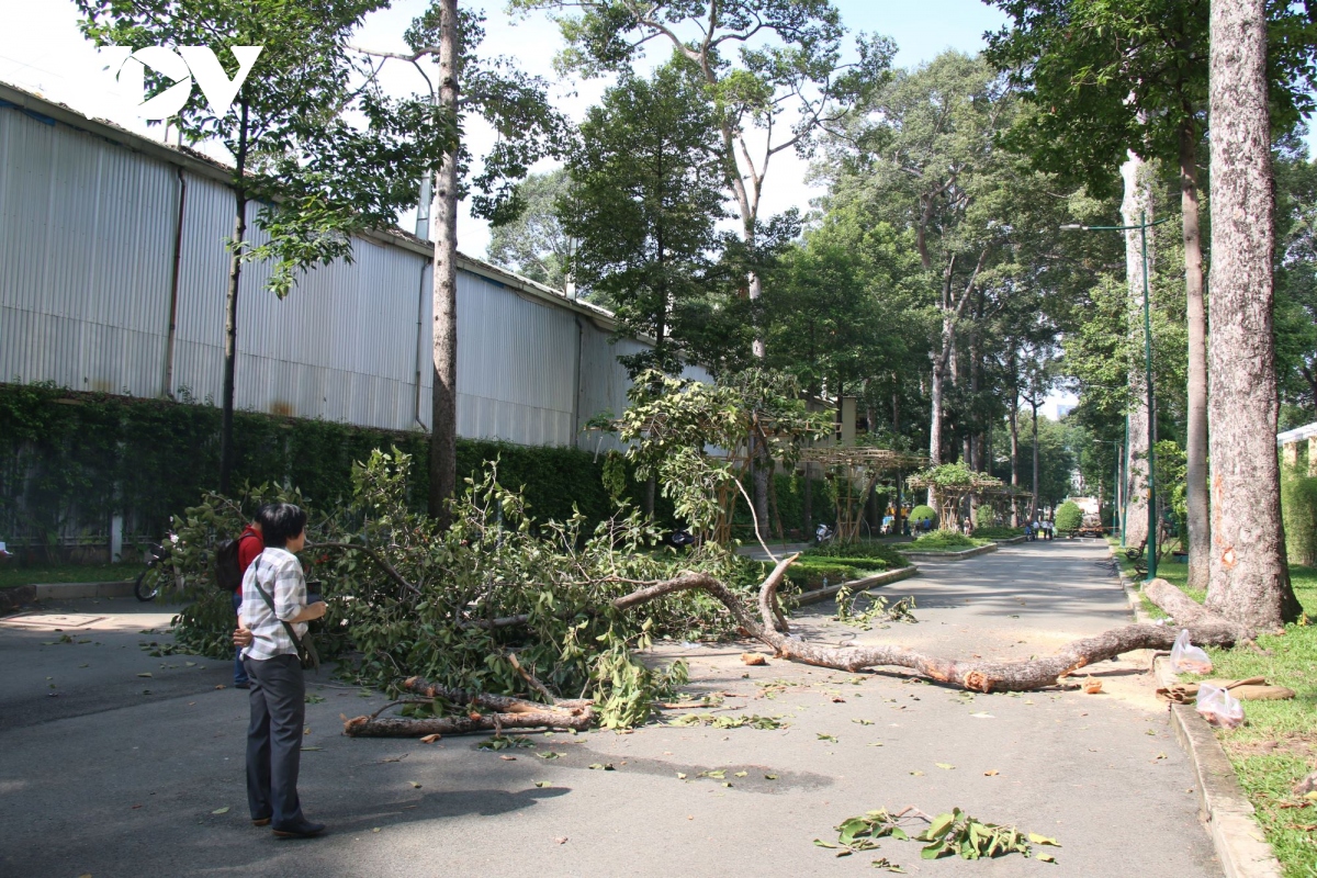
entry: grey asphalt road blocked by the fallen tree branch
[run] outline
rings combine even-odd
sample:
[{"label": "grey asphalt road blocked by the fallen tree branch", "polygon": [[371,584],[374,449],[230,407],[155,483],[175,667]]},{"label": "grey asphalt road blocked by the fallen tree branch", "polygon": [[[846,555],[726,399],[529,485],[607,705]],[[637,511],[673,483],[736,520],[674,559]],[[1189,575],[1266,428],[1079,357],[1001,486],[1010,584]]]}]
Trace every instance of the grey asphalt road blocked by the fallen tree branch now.
[{"label": "grey asphalt road blocked by the fallen tree branch", "polygon": [[[925,563],[921,577],[884,590],[914,595],[918,624],[857,632],[828,620],[824,603],[803,612],[797,631],[834,644],[890,638],[950,656],[1027,658],[1129,620],[1105,555],[1096,541],[1056,541]],[[668,645],[656,653],[685,656],[691,688],[732,694],[722,712],[782,716],[790,727],[536,735],[535,750],[502,754],[477,750],[478,738],[427,746],[342,737],[340,713],[383,700],[312,686],[325,700],[307,706],[306,744],[319,749],[303,756],[302,795],[331,833],[277,841],[245,813],[245,699],[215,688],[230,682],[228,666],[141,652],[138,641],[162,637],[137,631],[167,613],[138,615],[128,602],[67,609],[109,619],[51,646],[42,644],[58,633],[0,624],[4,875],[840,877],[874,874],[880,856],[913,875],[1221,874],[1189,766],[1139,662],[1092,669],[1102,695],[971,698],[898,673],[776,659],[747,667],[739,656],[748,644]],[[730,787],[697,778],[716,769]],[[931,813],[959,806],[1055,836],[1060,865],[1019,856],[992,866],[923,862],[917,844],[888,841],[873,856],[835,858],[811,844],[835,837],[847,816],[907,804]]]}]

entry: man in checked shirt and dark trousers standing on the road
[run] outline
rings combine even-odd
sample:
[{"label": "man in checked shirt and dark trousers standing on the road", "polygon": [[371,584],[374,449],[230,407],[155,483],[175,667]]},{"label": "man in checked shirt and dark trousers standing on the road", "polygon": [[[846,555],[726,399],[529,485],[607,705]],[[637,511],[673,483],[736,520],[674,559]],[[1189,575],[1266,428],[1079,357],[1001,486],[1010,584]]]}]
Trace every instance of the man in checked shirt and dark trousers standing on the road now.
[{"label": "man in checked shirt and dark trousers standing on the road", "polygon": [[257,521],[265,550],[242,577],[241,627],[233,634],[233,642],[244,646],[242,665],[252,681],[248,807],[253,824],[304,839],[323,832],[324,824],[307,820],[298,799],[306,682],[292,634],[306,634],[307,623],[324,616],[325,604],[307,603],[296,558],[307,542],[307,513],[291,503],[271,503]]}]

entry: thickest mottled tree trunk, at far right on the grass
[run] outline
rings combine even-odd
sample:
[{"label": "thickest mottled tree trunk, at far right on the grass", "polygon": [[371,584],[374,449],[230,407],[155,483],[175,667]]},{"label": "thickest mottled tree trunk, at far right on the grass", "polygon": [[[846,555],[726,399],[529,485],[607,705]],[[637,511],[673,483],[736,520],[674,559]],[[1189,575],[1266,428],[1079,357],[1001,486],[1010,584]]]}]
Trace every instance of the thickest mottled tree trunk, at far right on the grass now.
[{"label": "thickest mottled tree trunk, at far right on the grass", "polygon": [[1285,563],[1275,441],[1266,0],[1212,0],[1210,45],[1213,521],[1206,607],[1231,621],[1279,629],[1301,608]]}]

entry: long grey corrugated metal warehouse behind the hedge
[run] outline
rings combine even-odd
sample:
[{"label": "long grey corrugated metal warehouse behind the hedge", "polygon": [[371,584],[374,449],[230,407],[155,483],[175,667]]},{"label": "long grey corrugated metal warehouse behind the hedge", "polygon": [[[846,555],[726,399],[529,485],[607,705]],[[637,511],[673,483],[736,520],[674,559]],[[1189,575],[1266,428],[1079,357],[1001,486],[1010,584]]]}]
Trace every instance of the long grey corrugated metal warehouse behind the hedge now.
[{"label": "long grey corrugated metal warehouse behind the hedge", "polygon": [[[0,84],[0,380],[217,400],[228,179]],[[237,408],[429,428],[431,246],[381,232],[357,237],[353,257],[282,301],[267,266],[244,267]],[[644,342],[610,345],[608,312],[469,257],[457,300],[460,436],[583,445],[586,420],[626,407],[616,357]]]}]

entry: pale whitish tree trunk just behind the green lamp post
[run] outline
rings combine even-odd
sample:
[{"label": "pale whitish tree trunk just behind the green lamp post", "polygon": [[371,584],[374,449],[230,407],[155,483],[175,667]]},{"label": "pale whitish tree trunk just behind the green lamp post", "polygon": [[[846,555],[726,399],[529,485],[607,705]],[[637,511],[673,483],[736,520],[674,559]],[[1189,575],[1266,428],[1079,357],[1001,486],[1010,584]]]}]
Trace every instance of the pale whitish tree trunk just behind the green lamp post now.
[{"label": "pale whitish tree trunk just behind the green lamp post", "polygon": [[[1134,153],[1121,166],[1121,179],[1125,182],[1125,199],[1121,203],[1121,217],[1125,225],[1138,225],[1139,216],[1152,221],[1152,190],[1150,186],[1151,167]],[[1148,236],[1148,271],[1152,270],[1152,236]],[[1130,336],[1138,344],[1131,349],[1138,354],[1130,359],[1130,445],[1126,450],[1126,494],[1129,498],[1126,516],[1126,542],[1139,545],[1148,533],[1148,409],[1147,370],[1143,366],[1143,251],[1138,230],[1125,233],[1125,280],[1129,287]]]}]

